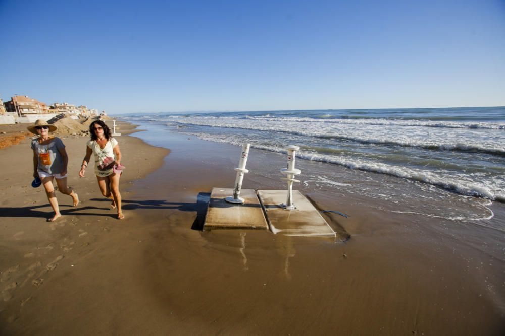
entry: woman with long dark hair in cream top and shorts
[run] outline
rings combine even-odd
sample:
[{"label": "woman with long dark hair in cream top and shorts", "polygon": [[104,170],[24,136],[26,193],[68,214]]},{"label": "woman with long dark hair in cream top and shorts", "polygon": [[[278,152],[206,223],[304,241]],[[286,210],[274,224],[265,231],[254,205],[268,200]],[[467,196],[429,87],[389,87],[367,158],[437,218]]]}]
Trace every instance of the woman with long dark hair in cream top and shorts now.
[{"label": "woman with long dark hair in cream top and shorts", "polygon": [[94,173],[102,195],[112,199],[111,207],[117,208],[118,219],[125,216],[121,210],[121,194],[119,193],[119,178],[121,176],[121,151],[111,130],[102,120],[95,120],[89,125],[91,140],[86,144],[86,156],[81,165],[79,176],[84,177],[91,153],[94,154]]}]

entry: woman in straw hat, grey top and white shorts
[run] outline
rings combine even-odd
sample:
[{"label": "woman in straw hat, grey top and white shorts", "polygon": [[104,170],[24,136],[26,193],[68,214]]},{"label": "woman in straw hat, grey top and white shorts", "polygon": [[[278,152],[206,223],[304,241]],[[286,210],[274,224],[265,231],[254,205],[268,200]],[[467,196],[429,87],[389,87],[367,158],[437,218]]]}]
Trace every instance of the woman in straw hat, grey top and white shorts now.
[{"label": "woman in straw hat, grey top and white shorts", "polygon": [[39,136],[31,142],[33,177],[40,177],[42,180],[49,204],[55,211],[55,215],[47,219],[49,222],[56,221],[58,217],[61,217],[53,178],[56,179],[60,192],[72,197],[72,205],[75,207],[79,204],[79,197],[74,190],[67,186],[68,155],[65,151],[65,145],[60,138],[49,135],[50,132],[54,132],[56,129],[55,125],[50,125],[47,121],[40,119],[35,121],[34,125],[28,127],[30,132]]}]

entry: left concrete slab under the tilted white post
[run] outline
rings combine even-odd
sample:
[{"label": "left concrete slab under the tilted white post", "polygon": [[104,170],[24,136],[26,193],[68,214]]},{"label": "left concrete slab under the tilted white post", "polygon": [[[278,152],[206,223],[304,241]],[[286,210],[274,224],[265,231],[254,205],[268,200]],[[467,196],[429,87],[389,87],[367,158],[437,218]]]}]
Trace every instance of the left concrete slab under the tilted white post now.
[{"label": "left concrete slab under the tilted white post", "polygon": [[266,229],[268,224],[256,192],[242,189],[243,204],[228,203],[224,199],[233,195],[231,188],[213,188],[204,230],[215,229]]}]

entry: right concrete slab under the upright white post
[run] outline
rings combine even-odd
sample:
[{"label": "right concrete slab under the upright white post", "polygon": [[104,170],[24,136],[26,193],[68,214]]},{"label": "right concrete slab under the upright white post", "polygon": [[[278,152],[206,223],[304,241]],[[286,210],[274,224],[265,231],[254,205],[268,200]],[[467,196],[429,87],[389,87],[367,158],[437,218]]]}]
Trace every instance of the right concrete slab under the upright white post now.
[{"label": "right concrete slab under the upright white post", "polygon": [[298,190],[293,190],[296,209],[285,210],[286,190],[258,190],[258,197],[265,208],[270,230],[286,236],[336,237],[319,211]]}]

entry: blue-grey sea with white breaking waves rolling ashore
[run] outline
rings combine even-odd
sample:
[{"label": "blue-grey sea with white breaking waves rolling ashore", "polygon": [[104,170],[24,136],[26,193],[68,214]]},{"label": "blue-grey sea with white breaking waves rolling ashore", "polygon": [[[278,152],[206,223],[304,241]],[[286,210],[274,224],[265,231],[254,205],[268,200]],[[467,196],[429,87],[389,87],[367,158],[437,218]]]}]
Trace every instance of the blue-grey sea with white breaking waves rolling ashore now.
[{"label": "blue-grey sea with white breaking waves rolling ashore", "polygon": [[158,113],[125,119],[268,152],[285,153],[286,145],[297,145],[297,159],[324,163],[302,172],[306,187],[359,193],[397,204],[398,212],[489,219],[491,201],[505,202],[505,107]]}]

